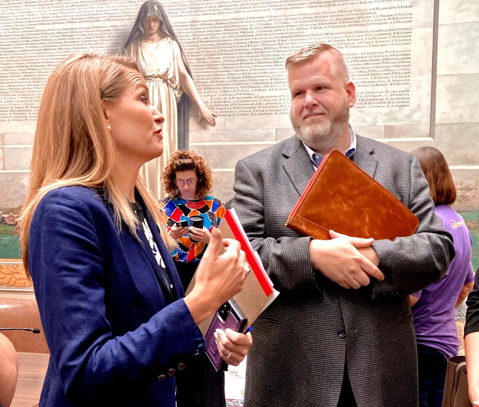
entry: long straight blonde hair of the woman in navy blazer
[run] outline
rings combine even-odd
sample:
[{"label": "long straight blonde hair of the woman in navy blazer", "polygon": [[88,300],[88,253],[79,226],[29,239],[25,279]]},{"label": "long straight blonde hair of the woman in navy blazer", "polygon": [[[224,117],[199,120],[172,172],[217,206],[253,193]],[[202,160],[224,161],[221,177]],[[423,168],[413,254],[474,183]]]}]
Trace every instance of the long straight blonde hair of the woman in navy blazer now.
[{"label": "long straight blonde hair of the woman in navy blazer", "polygon": [[[138,219],[113,175],[115,144],[103,119],[102,100],[115,102],[127,85],[125,72],[138,70],[129,58],[75,53],[51,73],[38,111],[30,164],[30,183],[20,221],[23,265],[28,272],[30,223],[40,200],[51,190],[80,185],[102,188],[112,204],[115,223],[125,223],[136,236]],[[140,177],[136,188],[153,219],[162,222],[158,201]],[[168,249],[174,240],[160,227]]]}]

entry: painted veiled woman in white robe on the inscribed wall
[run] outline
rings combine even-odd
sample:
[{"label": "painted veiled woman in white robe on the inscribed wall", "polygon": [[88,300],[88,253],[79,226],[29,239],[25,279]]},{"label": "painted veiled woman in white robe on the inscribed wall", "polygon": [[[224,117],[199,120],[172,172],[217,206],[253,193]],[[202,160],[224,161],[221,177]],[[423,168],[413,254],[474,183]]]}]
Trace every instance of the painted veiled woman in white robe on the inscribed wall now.
[{"label": "painted veiled woman in white robe on the inscribed wall", "polygon": [[201,99],[180,42],[158,1],[148,0],[141,6],[125,52],[138,64],[148,84],[151,103],[165,117],[163,156],[142,167],[145,182],[160,199],[161,174],[168,157],[178,148],[188,148],[190,98],[198,106],[199,117],[212,126],[216,115]]}]

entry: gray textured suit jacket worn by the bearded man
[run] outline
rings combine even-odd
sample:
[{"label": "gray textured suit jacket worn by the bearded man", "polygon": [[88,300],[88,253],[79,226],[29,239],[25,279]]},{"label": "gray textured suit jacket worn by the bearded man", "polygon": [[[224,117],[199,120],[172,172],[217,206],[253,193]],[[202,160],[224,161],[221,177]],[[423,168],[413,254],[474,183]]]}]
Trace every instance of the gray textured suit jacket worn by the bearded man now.
[{"label": "gray textured suit jacket worn by the bearded man", "polygon": [[359,290],[313,272],[310,238],[284,226],[314,172],[297,137],[236,166],[233,206],[280,291],[253,324],[245,407],[334,407],[345,363],[358,406],[418,405],[408,294],[442,277],[454,248],[416,158],[358,136],[353,161],[420,220],[414,236],[373,244],[386,278]]}]

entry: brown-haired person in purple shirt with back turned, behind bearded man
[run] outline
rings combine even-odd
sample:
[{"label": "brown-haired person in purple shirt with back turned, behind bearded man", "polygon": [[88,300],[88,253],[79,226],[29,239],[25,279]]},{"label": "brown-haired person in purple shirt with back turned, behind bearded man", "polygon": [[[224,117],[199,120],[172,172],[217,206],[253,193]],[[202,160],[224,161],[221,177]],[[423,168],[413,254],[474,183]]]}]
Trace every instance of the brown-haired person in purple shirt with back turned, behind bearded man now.
[{"label": "brown-haired person in purple shirt with back turned, behind bearded man", "polygon": [[472,239],[464,219],[450,206],[456,201],[456,187],[444,155],[430,146],[411,153],[421,164],[436,215],[453,236],[456,250],[446,275],[410,296],[418,346],[419,405],[441,407],[447,360],[459,349],[455,309],[474,285]]}]

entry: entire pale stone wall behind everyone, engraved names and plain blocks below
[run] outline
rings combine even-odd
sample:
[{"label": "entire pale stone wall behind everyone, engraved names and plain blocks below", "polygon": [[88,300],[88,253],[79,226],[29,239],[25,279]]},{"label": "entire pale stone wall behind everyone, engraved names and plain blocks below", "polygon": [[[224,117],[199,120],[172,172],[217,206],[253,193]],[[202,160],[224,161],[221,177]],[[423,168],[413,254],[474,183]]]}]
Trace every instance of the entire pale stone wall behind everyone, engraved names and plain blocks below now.
[{"label": "entire pale stone wall behind everyone, engraved names and plain blocks below", "polygon": [[[12,38],[0,45],[0,208],[20,206],[24,199],[36,109],[51,68],[70,51],[117,52],[142,0],[63,0],[61,10],[51,7],[51,1],[32,0],[27,13],[31,21],[24,26],[15,22],[20,3],[0,4],[0,33]],[[299,46],[329,40],[344,51],[358,84],[351,116],[356,131],[407,151],[437,146],[452,165],[456,182],[469,185],[464,188],[470,193],[460,195],[456,207],[479,208],[477,1],[216,3],[163,1],[199,91],[220,116],[217,126],[210,127],[197,123],[192,109],[190,121],[191,148],[212,164],[216,195],[225,201],[233,195],[238,159],[293,133],[284,59]],[[433,55],[435,4],[439,19]],[[28,59],[25,43],[32,36],[37,44],[29,48]],[[232,39],[241,41],[241,47],[233,47]],[[372,59],[378,55],[386,62]],[[396,70],[389,71],[388,64]],[[385,89],[399,92],[396,105],[384,107],[392,100],[385,99]]]}]

